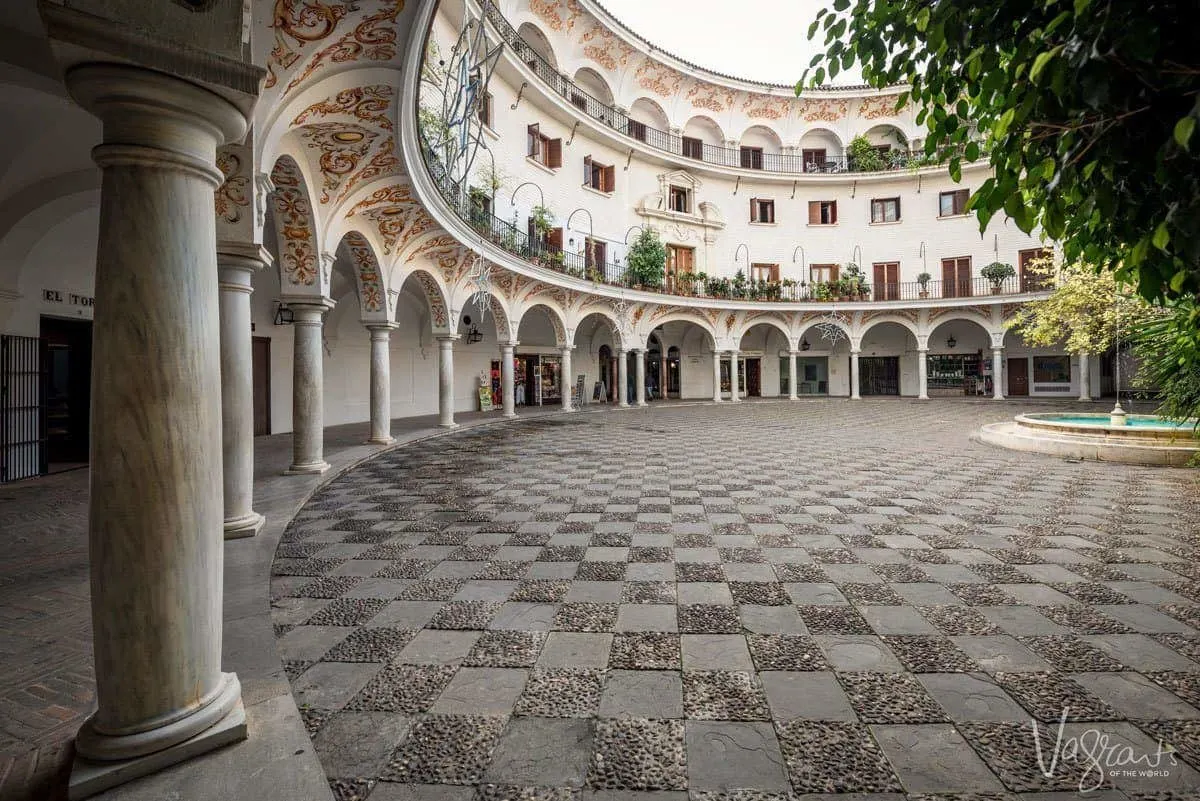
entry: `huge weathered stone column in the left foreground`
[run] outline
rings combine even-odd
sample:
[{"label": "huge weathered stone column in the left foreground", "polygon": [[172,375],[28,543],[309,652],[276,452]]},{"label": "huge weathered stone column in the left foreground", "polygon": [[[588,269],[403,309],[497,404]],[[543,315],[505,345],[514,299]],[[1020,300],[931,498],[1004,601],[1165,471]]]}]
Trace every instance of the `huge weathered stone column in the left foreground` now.
[{"label": "huge weathered stone column in the left foreground", "polygon": [[[221,670],[223,488],[216,147],[233,104],[132,66],[66,73],[103,122],[88,514],[97,710],[80,797],[246,736]],[[248,336],[248,332],[246,333]],[[185,745],[186,743],[186,745]]]}]

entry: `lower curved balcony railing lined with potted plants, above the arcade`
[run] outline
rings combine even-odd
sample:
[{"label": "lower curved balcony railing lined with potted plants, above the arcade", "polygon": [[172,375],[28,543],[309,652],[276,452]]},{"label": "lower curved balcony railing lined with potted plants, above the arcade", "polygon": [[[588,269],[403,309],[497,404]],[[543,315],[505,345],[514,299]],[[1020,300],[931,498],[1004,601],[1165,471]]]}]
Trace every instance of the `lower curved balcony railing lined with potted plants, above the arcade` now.
[{"label": "lower curved balcony railing lined with potted plants, above the arcade", "polygon": [[[864,302],[949,300],[962,297],[986,297],[991,295],[1019,295],[1048,289],[1028,277],[1013,276],[1000,282],[988,278],[961,281],[928,281],[872,283],[865,278],[841,278],[840,281],[810,282],[784,278],[780,281],[752,281],[744,276],[733,278],[707,276],[704,273],[667,275],[661,285],[635,285],[629,271],[619,260],[598,261],[584,253],[572,253],[530,235],[528,229],[500,219],[484,209],[463,185],[455,183],[442,167],[438,156],[427,146],[422,137],[422,152],[438,193],[454,209],[455,215],[470,225],[480,237],[491,241],[508,253],[575,278],[598,284],[655,291],[683,297],[707,297],[718,300],[760,301],[774,303],[796,302]],[[611,241],[599,240],[598,241]]]}]

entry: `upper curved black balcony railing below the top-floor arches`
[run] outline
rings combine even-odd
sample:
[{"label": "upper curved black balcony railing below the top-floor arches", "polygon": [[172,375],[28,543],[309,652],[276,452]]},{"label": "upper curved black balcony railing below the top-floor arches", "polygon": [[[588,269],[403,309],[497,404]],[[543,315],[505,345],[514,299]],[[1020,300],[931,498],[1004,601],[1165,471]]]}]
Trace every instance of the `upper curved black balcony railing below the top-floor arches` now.
[{"label": "upper curved black balcony railing below the top-floor arches", "polygon": [[702,143],[698,139],[676,135],[659,131],[644,122],[638,122],[617,110],[608,103],[598,100],[586,89],[558,72],[533,46],[521,38],[512,24],[500,13],[492,0],[481,0],[484,16],[496,28],[500,40],[512,48],[516,56],[523,61],[556,95],[563,97],[580,112],[593,120],[623,133],[628,137],[662,150],[674,156],[691,158],[718,167],[737,167],[762,170],[764,173],[880,173],[901,169],[916,169],[937,164],[937,159],[924,153],[910,153],[892,150],[887,153],[875,151],[868,156],[854,158],[841,155],[805,156],[802,153],[768,153],[761,150],[743,150],[740,147],[721,147]]}]

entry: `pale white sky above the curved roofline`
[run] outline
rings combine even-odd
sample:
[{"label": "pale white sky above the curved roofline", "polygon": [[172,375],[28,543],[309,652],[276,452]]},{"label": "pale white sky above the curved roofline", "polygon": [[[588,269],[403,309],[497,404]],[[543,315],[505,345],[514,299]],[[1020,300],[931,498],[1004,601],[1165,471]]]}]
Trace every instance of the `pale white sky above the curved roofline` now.
[{"label": "pale white sky above the curved roofline", "polygon": [[[682,59],[737,78],[793,85],[824,40],[809,41],[822,0],[600,0],[643,38]],[[731,13],[736,10],[736,13]],[[836,84],[859,83],[857,72]]]}]

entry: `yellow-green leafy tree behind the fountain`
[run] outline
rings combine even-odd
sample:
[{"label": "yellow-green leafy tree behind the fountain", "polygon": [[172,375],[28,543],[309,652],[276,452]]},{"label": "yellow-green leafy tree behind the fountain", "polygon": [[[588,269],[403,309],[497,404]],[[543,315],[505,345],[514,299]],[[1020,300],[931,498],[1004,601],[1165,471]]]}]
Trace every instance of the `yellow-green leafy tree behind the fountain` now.
[{"label": "yellow-green leafy tree behind the fountain", "polygon": [[1037,259],[1026,271],[1054,287],[1049,296],[1025,303],[1007,323],[1031,345],[1103,354],[1118,337],[1128,342],[1145,323],[1162,317],[1110,270],[1097,271],[1078,261],[1058,267],[1052,259]]}]

